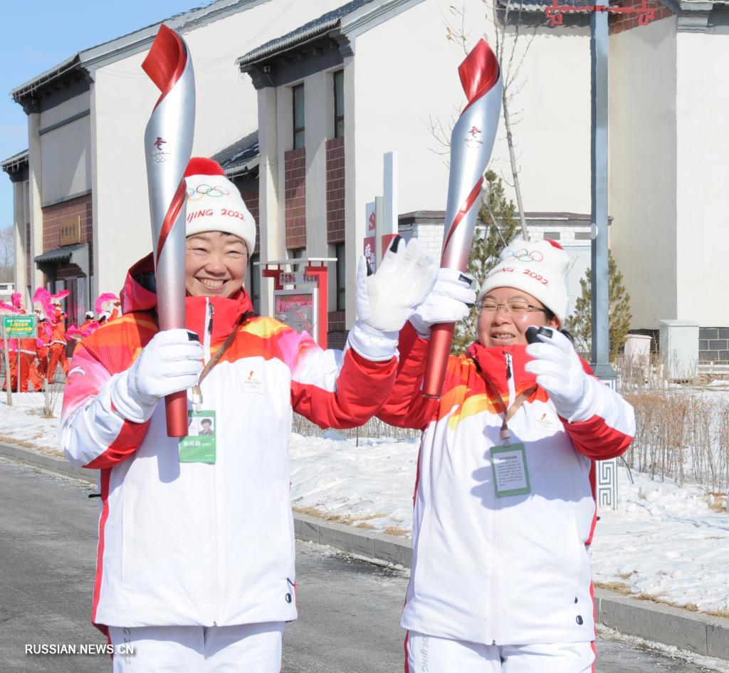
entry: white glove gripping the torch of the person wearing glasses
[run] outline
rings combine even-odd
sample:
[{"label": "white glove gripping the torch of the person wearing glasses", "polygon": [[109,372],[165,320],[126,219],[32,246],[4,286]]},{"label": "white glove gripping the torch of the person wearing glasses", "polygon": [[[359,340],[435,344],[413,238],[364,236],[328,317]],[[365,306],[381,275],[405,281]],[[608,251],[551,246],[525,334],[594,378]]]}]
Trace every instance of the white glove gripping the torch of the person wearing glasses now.
[{"label": "white glove gripping the torch of the person wearing glasses", "polygon": [[430,338],[430,328],[439,322],[459,322],[476,300],[473,279],[458,269],[438,269],[437,280],[423,303],[416,306],[410,324],[421,338]]}]

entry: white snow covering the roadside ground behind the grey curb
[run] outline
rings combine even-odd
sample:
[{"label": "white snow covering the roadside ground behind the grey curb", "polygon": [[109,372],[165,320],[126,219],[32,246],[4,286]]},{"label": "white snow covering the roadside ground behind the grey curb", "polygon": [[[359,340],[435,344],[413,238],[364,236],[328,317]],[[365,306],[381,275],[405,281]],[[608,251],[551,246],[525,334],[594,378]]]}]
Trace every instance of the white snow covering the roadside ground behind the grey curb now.
[{"label": "white snow covering the roadside ground behind the grey curb", "polygon": [[[58,454],[58,418],[41,393],[0,396],[0,442]],[[60,403],[56,407],[56,413]],[[410,535],[418,440],[292,434],[292,504],[368,529]],[[621,467],[620,505],[601,508],[592,545],[598,583],[701,612],[729,612],[729,512],[713,511],[698,486],[651,481]]]}]

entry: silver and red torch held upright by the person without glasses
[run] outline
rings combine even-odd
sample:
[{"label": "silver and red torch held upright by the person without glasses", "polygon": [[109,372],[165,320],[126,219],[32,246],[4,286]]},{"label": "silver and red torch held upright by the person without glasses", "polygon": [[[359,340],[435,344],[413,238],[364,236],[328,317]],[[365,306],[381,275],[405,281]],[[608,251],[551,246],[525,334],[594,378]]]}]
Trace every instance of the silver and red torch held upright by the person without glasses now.
[{"label": "silver and red torch held upright by the person without glasses", "polygon": [[[160,330],[184,328],[187,187],[184,171],[195,129],[195,74],[184,39],[160,26],[141,64],[162,94],[144,131]],[[167,435],[187,435],[187,392],[165,397]]]}]

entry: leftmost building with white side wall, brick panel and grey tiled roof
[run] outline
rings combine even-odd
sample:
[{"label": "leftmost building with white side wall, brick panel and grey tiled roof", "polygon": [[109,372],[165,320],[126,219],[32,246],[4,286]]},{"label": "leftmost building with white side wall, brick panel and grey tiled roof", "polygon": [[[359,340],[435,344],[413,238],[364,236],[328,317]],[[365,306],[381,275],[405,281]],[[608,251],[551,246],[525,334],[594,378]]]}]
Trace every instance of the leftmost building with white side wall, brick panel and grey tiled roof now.
[{"label": "leftmost building with white side wall, brick panel and grey tiled roof", "polygon": [[[218,0],[165,20],[195,69],[193,154],[212,155],[257,128],[256,96],[235,55],[337,4]],[[17,263],[30,262],[17,287],[26,302],[39,285],[68,288],[72,322],[101,292],[118,292],[152,249],[143,139],[159,91],[141,63],[158,28],[78,52],[11,92],[28,115],[26,163],[3,163],[17,179]]]}]

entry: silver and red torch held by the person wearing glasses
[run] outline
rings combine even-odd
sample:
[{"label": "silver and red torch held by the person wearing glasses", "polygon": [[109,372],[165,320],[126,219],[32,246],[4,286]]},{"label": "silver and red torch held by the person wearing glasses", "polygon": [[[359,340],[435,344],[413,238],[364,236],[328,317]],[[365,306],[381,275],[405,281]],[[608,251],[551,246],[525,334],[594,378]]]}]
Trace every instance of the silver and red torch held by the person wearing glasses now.
[{"label": "silver and red torch held by the person wearing glasses", "polygon": [[[459,66],[468,104],[451,133],[451,171],[445,210],[441,268],[466,271],[473,240],[483,174],[494,149],[502,104],[502,77],[494,51],[480,39]],[[453,342],[453,322],[430,330],[423,394],[440,397]]]}]

